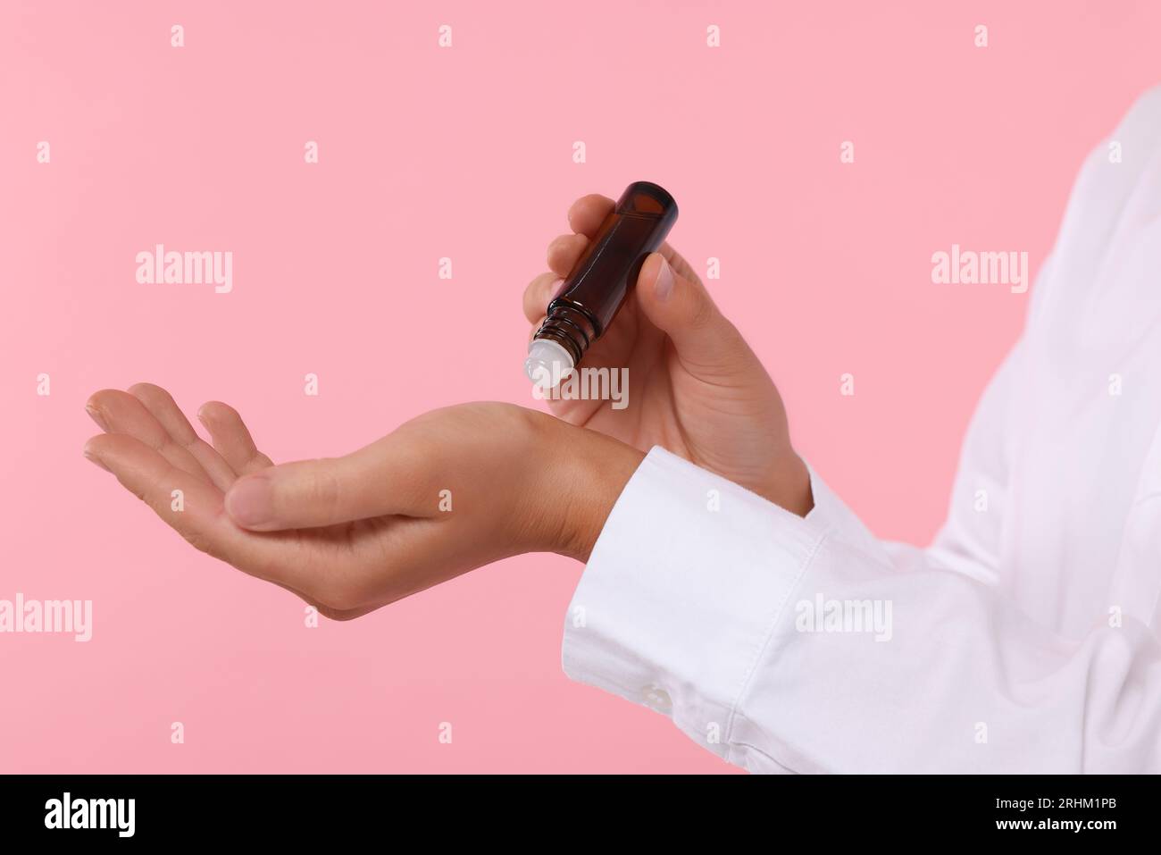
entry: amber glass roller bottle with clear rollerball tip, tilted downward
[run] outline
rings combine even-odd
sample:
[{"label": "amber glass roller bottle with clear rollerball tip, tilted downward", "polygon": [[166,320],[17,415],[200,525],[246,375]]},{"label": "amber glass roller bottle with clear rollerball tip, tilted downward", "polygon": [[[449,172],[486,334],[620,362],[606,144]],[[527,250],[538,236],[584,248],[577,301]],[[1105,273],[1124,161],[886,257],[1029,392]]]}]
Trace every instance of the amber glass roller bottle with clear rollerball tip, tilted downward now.
[{"label": "amber glass roller bottle with clear rollerball tip, tilted downward", "polygon": [[677,221],[677,202],[658,185],[634,181],[625,188],[589,246],[545,311],[528,344],[525,372],[546,389],[579,365],[605,335],[641,265],[656,252]]}]

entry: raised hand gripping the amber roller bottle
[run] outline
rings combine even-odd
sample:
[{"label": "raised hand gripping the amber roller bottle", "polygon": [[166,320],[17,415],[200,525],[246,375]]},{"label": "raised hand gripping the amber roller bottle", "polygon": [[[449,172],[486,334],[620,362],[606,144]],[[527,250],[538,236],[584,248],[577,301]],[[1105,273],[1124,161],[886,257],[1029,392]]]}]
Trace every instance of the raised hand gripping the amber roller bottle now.
[{"label": "raised hand gripping the amber roller bottle", "polygon": [[[589,195],[569,209],[574,233],[548,245],[550,272],[524,294],[534,329],[613,204]],[[646,260],[634,294],[580,367],[627,367],[630,403],[614,410],[603,401],[550,400],[564,421],[641,451],[661,445],[794,513],[813,506],[809,473],[791,447],[778,389],[668,244]]]}]

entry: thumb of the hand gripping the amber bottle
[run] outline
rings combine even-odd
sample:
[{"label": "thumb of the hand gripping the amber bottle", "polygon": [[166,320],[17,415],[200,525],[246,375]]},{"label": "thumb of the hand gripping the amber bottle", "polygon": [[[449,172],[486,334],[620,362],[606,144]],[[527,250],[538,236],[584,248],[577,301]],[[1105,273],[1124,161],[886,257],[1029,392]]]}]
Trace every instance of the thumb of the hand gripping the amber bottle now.
[{"label": "thumb of the hand gripping the amber bottle", "polygon": [[690,373],[706,379],[765,373],[705,286],[679,274],[659,252],[650,253],[641,266],[636,292],[641,309],[673,342]]}]

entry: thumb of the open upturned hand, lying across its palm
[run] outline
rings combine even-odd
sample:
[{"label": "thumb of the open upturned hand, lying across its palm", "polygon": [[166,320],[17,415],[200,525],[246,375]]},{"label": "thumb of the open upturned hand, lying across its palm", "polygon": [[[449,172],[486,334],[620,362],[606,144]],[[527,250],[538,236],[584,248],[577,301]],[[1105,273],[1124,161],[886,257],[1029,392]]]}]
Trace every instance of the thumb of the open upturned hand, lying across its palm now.
[{"label": "thumb of the open upturned hand, lying across its palm", "polygon": [[282,531],[401,512],[397,495],[377,483],[369,461],[360,460],[363,453],[283,464],[240,477],[225,494],[226,513],[243,529]]}]

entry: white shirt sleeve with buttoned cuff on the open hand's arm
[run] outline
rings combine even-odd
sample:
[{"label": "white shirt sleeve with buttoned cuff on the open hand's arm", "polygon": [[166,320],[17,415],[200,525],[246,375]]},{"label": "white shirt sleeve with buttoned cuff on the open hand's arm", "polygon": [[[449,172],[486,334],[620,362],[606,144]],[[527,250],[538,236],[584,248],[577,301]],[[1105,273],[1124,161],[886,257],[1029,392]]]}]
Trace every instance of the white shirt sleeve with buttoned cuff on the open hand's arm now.
[{"label": "white shirt sleeve with buttoned cuff on the open hand's arm", "polygon": [[810,476],[801,518],[650,451],[576,589],[565,673],[751,771],[1161,771],[1147,626],[1060,638]]}]

